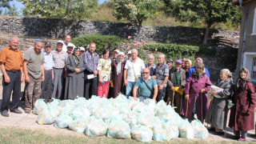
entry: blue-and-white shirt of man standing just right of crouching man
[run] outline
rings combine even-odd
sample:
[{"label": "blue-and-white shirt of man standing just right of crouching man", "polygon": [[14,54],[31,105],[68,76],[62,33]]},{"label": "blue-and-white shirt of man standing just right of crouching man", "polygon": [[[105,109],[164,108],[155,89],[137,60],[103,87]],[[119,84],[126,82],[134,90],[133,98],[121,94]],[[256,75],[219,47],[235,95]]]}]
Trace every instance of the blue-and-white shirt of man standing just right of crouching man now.
[{"label": "blue-and-white shirt of man standing just right of crouching man", "polygon": [[[162,82],[166,76],[169,76],[169,66],[166,63],[162,63],[162,66],[159,67],[158,64],[158,66],[155,68],[155,75],[157,76],[156,80],[158,82],[158,86],[162,85]],[[166,87],[166,84],[164,87]]]}]

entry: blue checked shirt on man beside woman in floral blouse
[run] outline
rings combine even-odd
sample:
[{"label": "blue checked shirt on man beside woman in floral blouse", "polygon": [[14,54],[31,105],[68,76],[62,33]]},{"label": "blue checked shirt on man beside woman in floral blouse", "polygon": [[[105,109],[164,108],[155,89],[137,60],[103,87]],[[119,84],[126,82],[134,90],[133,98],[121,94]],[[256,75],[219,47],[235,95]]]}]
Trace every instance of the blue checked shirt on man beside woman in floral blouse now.
[{"label": "blue checked shirt on man beside woman in floral blouse", "polygon": [[93,57],[90,51],[86,51],[85,54],[83,54],[83,60],[85,62],[86,70],[88,70],[91,73],[94,73],[98,66],[98,59],[99,55],[96,52],[94,52]]}]

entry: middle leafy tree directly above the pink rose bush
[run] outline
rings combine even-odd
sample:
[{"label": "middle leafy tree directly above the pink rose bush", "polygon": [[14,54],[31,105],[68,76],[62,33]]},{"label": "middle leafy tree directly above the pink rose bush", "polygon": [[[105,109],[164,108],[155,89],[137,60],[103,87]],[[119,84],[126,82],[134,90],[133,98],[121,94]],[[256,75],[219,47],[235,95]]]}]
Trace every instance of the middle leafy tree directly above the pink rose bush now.
[{"label": "middle leafy tree directly above the pink rose bush", "polygon": [[147,18],[154,18],[158,10],[158,0],[113,0],[114,17],[126,20],[137,26],[137,39],[140,36],[142,22]]}]

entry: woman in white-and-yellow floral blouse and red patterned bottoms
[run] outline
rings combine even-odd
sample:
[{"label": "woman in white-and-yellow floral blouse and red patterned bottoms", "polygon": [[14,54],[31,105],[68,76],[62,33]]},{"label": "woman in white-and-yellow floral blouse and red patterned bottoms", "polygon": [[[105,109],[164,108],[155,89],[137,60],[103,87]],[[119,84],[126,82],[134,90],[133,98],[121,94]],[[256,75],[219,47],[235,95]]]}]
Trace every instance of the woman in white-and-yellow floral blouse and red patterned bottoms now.
[{"label": "woman in white-and-yellow floral blouse and red patterned bottoms", "polygon": [[98,59],[98,97],[107,98],[110,89],[111,60],[110,50],[102,53],[103,58]]}]

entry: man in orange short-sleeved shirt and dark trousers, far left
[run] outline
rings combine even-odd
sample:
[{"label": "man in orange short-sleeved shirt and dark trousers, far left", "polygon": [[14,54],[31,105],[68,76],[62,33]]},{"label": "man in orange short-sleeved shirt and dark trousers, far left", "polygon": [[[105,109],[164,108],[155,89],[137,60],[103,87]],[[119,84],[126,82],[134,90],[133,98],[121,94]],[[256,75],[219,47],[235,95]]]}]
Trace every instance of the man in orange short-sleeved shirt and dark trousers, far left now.
[{"label": "man in orange short-sleeved shirt and dark trousers, far left", "polygon": [[24,82],[24,74],[22,74],[23,56],[22,52],[17,49],[18,42],[17,37],[10,38],[10,46],[3,48],[0,53],[0,68],[3,74],[1,114],[4,117],[9,117],[8,109],[12,91],[13,96],[10,111],[16,114],[22,114],[18,110],[18,104],[21,94],[21,82]]}]

